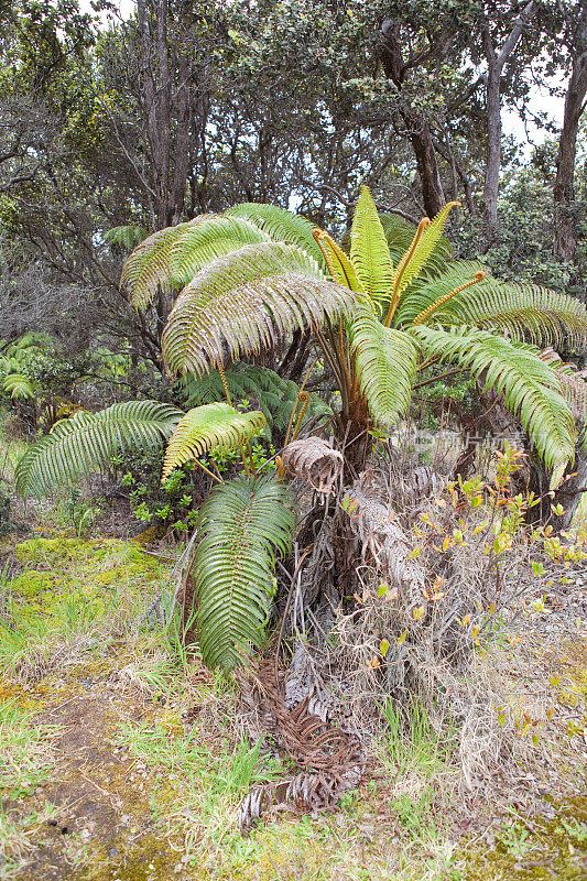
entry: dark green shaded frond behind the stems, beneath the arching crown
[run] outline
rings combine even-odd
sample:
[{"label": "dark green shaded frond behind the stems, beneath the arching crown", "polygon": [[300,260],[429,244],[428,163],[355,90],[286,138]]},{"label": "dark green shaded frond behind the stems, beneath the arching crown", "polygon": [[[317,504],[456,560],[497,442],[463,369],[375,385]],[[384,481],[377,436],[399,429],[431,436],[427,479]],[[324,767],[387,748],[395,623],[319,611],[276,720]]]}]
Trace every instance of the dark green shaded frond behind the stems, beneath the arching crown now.
[{"label": "dark green shaded frond behind the stems, beneath the arching crown", "polygon": [[[269,426],[278,431],[285,428],[300,392],[297,383],[267,367],[247,363],[233,365],[225,371],[225,378],[232,401],[250,400],[263,413]],[[188,406],[213,403],[225,393],[218,370],[199,378],[188,373],[180,382]],[[333,411],[317,394],[311,394],[306,418],[319,414],[331,416]]]}]

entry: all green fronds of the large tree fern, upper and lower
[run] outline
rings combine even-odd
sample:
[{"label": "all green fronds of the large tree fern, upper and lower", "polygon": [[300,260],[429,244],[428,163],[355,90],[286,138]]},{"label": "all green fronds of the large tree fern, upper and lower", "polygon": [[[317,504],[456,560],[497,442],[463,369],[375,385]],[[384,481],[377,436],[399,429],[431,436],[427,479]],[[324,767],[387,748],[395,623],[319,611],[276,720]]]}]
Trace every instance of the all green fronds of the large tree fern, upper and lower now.
[{"label": "all green fronds of the large tree fern, upper and lower", "polygon": [[[365,431],[370,420],[389,426],[405,412],[418,371],[456,365],[450,372],[467,370],[503,394],[556,482],[574,454],[575,420],[564,396],[573,378],[520,339],[584,338],[587,313],[564,295],[500,284],[478,264],[450,263],[442,232],[452,207],[423,220],[415,236],[398,218],[383,218],[385,235],[363,188],[347,255],[304,218],[246,204],[153,233],[127,261],[124,280],[141,305],[162,286],[182,287],[163,335],[166,362],[172,372],[194,374],[216,365],[228,399],[227,357],[309,324],[340,390],[345,452],[359,437],[349,427]],[[260,477],[246,453],[263,422],[262,413],[240,413],[230,400],[183,416],[150,401],[75,414],[26,450],[17,488],[42,493],[172,432],[163,479],[188,460],[205,468],[199,457],[213,446],[238,446],[247,474],[227,483],[216,478],[221,486],[202,509],[194,556],[204,661],[228,670],[260,643],[275,554],[287,550],[294,525],[283,468],[276,479]]]}]

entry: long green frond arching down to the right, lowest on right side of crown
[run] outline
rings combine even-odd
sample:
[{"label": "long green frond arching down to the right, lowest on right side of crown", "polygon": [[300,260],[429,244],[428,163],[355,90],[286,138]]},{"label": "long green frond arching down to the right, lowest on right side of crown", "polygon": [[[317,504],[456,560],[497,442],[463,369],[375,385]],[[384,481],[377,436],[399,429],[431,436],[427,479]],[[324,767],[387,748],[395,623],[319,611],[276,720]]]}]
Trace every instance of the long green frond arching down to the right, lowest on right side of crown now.
[{"label": "long green frond arching down to the right, lowest on right side of crown", "polygon": [[430,355],[456,362],[503,393],[506,406],[519,418],[537,454],[550,468],[575,455],[575,422],[555,371],[531,346],[470,327],[415,327],[413,335]]}]

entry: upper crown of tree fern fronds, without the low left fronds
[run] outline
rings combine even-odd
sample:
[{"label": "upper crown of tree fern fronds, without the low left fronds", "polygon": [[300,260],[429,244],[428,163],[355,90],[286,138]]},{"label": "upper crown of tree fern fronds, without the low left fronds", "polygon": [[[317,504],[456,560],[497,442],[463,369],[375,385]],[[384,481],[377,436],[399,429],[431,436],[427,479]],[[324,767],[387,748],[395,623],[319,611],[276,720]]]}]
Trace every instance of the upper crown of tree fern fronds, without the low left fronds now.
[{"label": "upper crown of tree fern fronds, without the low left fronds", "polygon": [[502,393],[546,465],[564,468],[574,455],[573,414],[559,373],[525,338],[583,345],[585,306],[452,261],[442,239],[452,207],[414,236],[398,218],[382,222],[363,188],[347,257],[304,218],[244,204],[153,233],[127,261],[123,281],[138,307],[161,287],[180,291],[163,334],[172,374],[222,371],[227,358],[309,325],[340,391],[341,438],[371,422],[393,424],[414,383],[436,381],[425,371],[448,363],[449,374],[467,371]]}]

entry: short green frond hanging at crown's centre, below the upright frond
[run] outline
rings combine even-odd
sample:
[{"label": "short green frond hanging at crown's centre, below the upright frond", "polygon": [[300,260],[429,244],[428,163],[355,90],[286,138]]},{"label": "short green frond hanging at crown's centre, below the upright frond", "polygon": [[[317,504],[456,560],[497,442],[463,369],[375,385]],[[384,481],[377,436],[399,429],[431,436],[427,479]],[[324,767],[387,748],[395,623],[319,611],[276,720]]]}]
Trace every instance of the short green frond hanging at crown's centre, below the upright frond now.
[{"label": "short green frond hanging at crown's centre, below the upright frond", "polygon": [[384,327],[368,307],[360,306],[351,325],[351,351],[371,416],[392,424],[410,406],[417,367],[414,339]]}]

